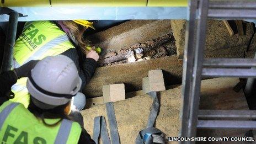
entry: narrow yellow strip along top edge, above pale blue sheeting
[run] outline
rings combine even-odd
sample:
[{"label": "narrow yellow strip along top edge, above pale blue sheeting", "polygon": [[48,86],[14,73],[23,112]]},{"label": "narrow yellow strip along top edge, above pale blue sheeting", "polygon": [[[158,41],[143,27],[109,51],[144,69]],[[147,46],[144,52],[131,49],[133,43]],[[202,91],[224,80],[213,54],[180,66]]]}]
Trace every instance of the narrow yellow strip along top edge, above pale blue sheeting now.
[{"label": "narrow yellow strip along top edge, above pale blue sheeting", "polygon": [[[188,0],[5,0],[1,7],[186,7]],[[50,3],[51,2],[51,3]]]}]

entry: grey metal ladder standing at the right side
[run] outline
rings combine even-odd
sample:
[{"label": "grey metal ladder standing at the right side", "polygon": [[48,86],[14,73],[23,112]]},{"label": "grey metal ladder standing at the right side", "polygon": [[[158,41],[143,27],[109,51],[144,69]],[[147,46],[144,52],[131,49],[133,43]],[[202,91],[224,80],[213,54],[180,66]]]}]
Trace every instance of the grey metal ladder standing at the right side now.
[{"label": "grey metal ladder standing at the right side", "polygon": [[[183,60],[183,111],[180,136],[194,137],[197,129],[256,129],[256,121],[251,120],[256,118],[255,110],[199,110],[202,77],[250,77],[251,80],[256,77],[256,69],[253,68],[256,67],[256,59],[204,60],[207,18],[255,19],[256,1],[190,0],[188,8],[190,14]],[[216,120],[222,118],[232,120]]]}]

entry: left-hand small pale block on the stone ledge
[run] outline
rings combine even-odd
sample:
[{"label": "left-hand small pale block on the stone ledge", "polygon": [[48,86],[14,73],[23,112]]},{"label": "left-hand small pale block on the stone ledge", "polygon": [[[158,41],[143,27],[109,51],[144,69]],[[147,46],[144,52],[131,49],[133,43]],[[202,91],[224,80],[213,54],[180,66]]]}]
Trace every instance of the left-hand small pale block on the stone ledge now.
[{"label": "left-hand small pale block on the stone ledge", "polygon": [[109,84],[102,88],[104,103],[125,100],[125,84]]}]

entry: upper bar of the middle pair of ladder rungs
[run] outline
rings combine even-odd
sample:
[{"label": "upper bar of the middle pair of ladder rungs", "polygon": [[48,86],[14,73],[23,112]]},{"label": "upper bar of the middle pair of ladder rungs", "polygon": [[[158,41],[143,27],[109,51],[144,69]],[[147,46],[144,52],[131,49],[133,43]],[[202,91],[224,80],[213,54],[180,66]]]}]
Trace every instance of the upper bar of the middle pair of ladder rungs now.
[{"label": "upper bar of the middle pair of ladder rungs", "polygon": [[254,58],[207,58],[203,66],[211,67],[255,67],[256,59]]}]

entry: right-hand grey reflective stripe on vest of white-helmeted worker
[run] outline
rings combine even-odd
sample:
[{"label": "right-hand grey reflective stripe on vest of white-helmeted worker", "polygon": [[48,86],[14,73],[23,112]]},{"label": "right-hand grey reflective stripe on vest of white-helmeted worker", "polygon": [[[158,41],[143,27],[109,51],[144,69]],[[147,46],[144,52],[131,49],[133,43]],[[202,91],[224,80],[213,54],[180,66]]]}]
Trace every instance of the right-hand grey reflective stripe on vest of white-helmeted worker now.
[{"label": "right-hand grey reflective stripe on vest of white-helmeted worker", "polygon": [[68,136],[70,135],[71,127],[72,127],[72,121],[63,119],[54,143],[55,144],[67,143],[67,139],[68,139]]}]

